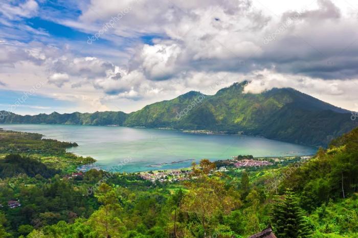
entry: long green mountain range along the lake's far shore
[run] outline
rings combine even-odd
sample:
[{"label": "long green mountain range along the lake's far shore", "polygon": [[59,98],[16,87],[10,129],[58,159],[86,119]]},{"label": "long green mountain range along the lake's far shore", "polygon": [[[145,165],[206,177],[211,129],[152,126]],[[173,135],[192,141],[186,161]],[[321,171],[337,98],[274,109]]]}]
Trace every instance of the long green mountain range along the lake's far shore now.
[{"label": "long green mountain range along the lake's far shore", "polygon": [[213,96],[190,91],[129,114],[105,111],[21,116],[10,113],[1,123],[167,127],[229,134],[242,132],[312,146],[326,146],[332,138],[354,128],[348,110],[292,88],[244,93],[247,83],[234,83]]}]

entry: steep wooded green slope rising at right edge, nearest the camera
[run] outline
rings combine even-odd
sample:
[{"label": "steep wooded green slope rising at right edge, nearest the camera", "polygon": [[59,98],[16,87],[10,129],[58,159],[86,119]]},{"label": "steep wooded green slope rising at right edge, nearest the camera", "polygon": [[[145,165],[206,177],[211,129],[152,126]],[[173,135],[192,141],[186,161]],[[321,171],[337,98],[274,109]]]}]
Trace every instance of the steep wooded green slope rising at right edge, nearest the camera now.
[{"label": "steep wooded green slope rising at right edge, nearest the camera", "polygon": [[311,210],[327,201],[354,198],[357,174],[358,128],[355,128],[333,139],[329,147],[319,150],[313,159],[295,167],[281,185],[302,194],[304,208]]}]

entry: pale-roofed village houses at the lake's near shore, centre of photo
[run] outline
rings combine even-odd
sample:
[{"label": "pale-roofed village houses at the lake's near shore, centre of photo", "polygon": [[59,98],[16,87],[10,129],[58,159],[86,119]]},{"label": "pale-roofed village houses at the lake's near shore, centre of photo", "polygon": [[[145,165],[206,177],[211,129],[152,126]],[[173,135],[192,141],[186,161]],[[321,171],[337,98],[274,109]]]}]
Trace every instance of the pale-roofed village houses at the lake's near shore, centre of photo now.
[{"label": "pale-roofed village houses at the lake's near shore, centre of photo", "polygon": [[189,171],[158,171],[158,172],[142,172],[141,178],[150,180],[155,183],[156,180],[160,182],[184,181],[189,179]]}]

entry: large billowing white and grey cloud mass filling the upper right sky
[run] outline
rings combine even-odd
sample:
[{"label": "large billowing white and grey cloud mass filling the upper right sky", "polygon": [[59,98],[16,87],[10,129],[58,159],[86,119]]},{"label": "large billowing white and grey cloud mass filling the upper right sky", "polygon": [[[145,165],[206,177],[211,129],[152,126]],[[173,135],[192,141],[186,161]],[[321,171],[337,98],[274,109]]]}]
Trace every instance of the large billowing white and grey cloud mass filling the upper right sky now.
[{"label": "large billowing white and grey cloud mass filling the upper right sky", "polygon": [[[144,14],[149,4],[154,5],[152,12]],[[83,9],[80,27],[105,22],[128,6],[132,10],[114,26],[113,34],[158,35],[153,45],[135,48],[131,59],[131,69],[142,70],[149,80],[169,80],[184,70],[249,73],[265,68],[323,79],[358,76],[358,42],[353,41],[358,32],[352,30],[357,22],[343,17],[330,0],[318,0],[317,7],[302,5],[279,18],[253,7],[249,0],[106,5],[95,0]],[[264,44],[267,37],[273,40]]]}]

